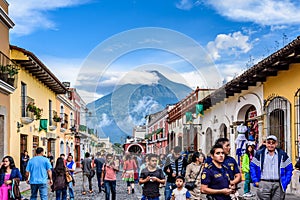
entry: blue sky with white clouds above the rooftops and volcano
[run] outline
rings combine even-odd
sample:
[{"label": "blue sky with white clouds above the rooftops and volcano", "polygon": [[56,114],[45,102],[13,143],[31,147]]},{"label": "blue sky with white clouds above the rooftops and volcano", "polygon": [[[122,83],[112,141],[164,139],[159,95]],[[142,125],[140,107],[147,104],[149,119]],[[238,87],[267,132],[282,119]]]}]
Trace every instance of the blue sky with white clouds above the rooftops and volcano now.
[{"label": "blue sky with white clouds above the rooftops and volcano", "polygon": [[[145,79],[148,84],[157,81],[151,74],[141,75],[140,72],[154,66],[164,68],[163,73],[168,78],[192,88],[197,85],[211,87],[203,80],[214,80],[211,73],[201,69],[202,75],[198,75],[198,67],[191,66],[182,55],[161,47],[129,48],[126,53],[115,55],[109,64],[94,60],[95,57],[109,57],[118,48],[130,45],[132,41],[122,37],[122,33],[130,30],[157,27],[173,31],[173,39],[184,35],[194,40],[203,48],[200,53],[193,51],[192,43],[188,50],[188,46],[175,39],[173,42],[178,46],[172,48],[184,46],[191,57],[208,56],[208,63],[213,63],[215,73],[221,80],[228,81],[295,39],[300,24],[300,4],[296,0],[8,2],[9,15],[15,22],[10,32],[10,43],[36,54],[61,81],[71,81],[86,102],[107,94],[118,84],[138,83]],[[151,31],[154,33],[155,29]],[[130,33],[134,40],[139,32]],[[151,34],[145,34],[145,37],[148,38],[141,39],[162,42],[155,41]],[[106,45],[103,49],[105,42],[111,44],[111,48]],[[100,71],[86,67],[87,63],[92,63],[89,62],[91,59],[98,63],[98,67],[101,65]],[[207,63],[204,65],[208,66]],[[221,82],[216,81],[214,86],[220,86]]]}]

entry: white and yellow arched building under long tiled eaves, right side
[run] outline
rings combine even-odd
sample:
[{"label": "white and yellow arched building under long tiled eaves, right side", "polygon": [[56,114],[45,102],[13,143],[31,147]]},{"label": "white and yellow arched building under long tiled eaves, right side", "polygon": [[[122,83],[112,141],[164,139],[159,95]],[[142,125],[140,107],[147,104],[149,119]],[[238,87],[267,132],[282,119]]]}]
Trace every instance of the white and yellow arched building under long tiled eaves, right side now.
[{"label": "white and yellow arched building under long tiled eaves, right side", "polygon": [[200,123],[204,125],[206,141],[200,145],[206,153],[211,146],[207,141],[219,136],[230,138],[235,147],[236,127],[244,123],[248,128],[247,139],[254,136],[259,144],[267,135],[274,134],[279,146],[295,162],[299,157],[300,130],[299,49],[298,37],[199,102],[204,107]]}]

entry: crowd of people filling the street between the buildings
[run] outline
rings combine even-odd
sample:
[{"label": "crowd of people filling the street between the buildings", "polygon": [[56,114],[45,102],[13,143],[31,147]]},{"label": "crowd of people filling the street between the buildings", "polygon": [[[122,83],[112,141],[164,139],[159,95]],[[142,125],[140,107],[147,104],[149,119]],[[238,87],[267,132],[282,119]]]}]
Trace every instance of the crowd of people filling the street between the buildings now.
[{"label": "crowd of people filling the street between the buildings", "polygon": [[[257,187],[257,199],[285,199],[288,184],[299,184],[300,160],[295,170],[287,153],[277,148],[277,137],[270,135],[261,147],[246,144],[246,151],[240,163],[230,156],[230,142],[227,138],[215,141],[209,154],[201,150],[183,151],[174,147],[168,155],[131,154],[116,156],[97,153],[96,157],[86,152],[81,160],[82,193],[94,193],[92,179],[97,177],[99,193],[105,192],[105,200],[116,200],[117,173],[121,173],[128,195],[135,193],[135,184],[142,186],[142,200],[159,200],[160,188],[164,188],[165,200],[230,200],[238,199],[239,183],[244,179],[244,197],[251,197],[251,183]],[[76,163],[69,154],[54,157],[38,147],[32,158],[28,152],[21,156],[19,170],[11,156],[5,156],[0,167],[0,199],[21,199],[14,194],[14,183],[21,180],[30,184],[31,198],[48,199],[48,185],[55,192],[57,200],[74,197],[74,172]],[[242,178],[243,174],[243,178]],[[298,177],[298,180],[296,180]],[[298,181],[298,182],[297,182]],[[295,185],[295,184],[293,184]],[[295,188],[293,188],[295,189]],[[13,192],[12,192],[13,191]]]}]

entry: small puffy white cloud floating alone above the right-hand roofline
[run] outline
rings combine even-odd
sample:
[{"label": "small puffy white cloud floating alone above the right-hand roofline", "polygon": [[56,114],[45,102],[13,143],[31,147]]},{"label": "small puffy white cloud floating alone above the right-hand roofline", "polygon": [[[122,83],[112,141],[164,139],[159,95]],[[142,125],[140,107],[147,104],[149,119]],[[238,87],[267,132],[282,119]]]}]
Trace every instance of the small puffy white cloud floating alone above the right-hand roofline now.
[{"label": "small puffy white cloud floating alone above the right-hand roofline", "polygon": [[222,53],[227,55],[238,55],[247,53],[252,48],[249,43],[249,36],[241,32],[234,32],[228,35],[219,34],[214,41],[207,44],[207,51],[214,60],[221,58]]}]

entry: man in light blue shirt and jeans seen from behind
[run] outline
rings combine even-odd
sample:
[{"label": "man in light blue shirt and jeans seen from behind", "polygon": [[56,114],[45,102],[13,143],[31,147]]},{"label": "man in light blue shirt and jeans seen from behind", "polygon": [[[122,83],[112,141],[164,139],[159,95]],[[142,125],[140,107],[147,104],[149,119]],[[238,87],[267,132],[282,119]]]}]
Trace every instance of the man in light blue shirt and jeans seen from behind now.
[{"label": "man in light blue shirt and jeans seen from behind", "polygon": [[[49,184],[52,185],[52,166],[49,159],[45,158],[44,149],[38,147],[36,149],[36,156],[31,158],[26,167],[26,182],[30,184],[31,200],[37,199],[37,194],[40,192],[41,200],[48,199],[47,181],[49,177]],[[28,180],[28,177],[30,178]]]}]

